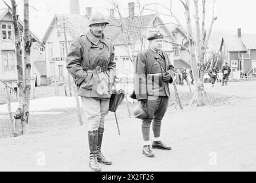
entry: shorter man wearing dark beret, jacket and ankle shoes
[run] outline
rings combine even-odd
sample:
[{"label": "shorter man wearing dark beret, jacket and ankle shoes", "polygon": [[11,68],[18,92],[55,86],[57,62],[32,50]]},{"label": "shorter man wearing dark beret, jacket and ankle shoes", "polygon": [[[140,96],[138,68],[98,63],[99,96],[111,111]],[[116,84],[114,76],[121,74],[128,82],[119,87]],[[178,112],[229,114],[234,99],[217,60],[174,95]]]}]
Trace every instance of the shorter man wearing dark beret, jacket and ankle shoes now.
[{"label": "shorter man wearing dark beret, jacket and ankle shoes", "polygon": [[174,66],[167,54],[162,50],[163,34],[153,33],[148,37],[149,47],[141,51],[135,61],[134,89],[136,99],[147,110],[147,116],[142,119],[143,154],[154,157],[149,141],[152,122],[153,149],[171,150],[160,139],[161,122],[166,113],[172,83]]}]

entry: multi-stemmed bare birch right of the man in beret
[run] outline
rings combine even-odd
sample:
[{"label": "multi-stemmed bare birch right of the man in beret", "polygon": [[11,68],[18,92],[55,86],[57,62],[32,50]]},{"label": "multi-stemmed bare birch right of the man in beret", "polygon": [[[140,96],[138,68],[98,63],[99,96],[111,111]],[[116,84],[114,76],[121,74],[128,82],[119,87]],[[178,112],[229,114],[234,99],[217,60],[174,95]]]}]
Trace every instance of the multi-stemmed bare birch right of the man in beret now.
[{"label": "multi-stemmed bare birch right of the man in beret", "polygon": [[[214,16],[214,4],[215,1],[212,3],[212,19],[210,23],[210,27],[208,29],[208,32],[206,33],[205,28],[205,21],[206,21],[206,1],[202,0],[202,28],[200,30],[200,17],[199,17],[199,3],[198,0],[179,0],[180,3],[182,3],[184,7],[184,15],[186,20],[186,27],[184,27],[179,20],[179,18],[175,15],[175,13],[172,11],[172,0],[170,0],[170,8],[160,4],[160,3],[151,3],[149,5],[156,5],[156,6],[162,6],[166,10],[169,11],[170,14],[164,14],[169,17],[172,17],[176,20],[177,25],[180,27],[180,29],[184,32],[185,37],[188,42],[188,48],[186,49],[188,53],[190,54],[190,63],[191,63],[191,69],[193,73],[193,77],[195,80],[195,98],[198,106],[206,105],[208,101],[208,98],[206,96],[206,92],[204,90],[203,85],[203,75],[204,75],[204,57],[208,45],[208,40],[211,35],[211,29],[213,26],[214,21],[217,19],[217,17]],[[194,38],[192,34],[192,20],[191,20],[191,9],[190,9],[190,2],[194,3],[194,18],[195,18],[195,27],[196,27],[196,36]],[[202,33],[202,34],[201,34]],[[179,45],[178,43],[172,42],[176,45]],[[197,63],[199,64],[199,68],[197,66]]]}]

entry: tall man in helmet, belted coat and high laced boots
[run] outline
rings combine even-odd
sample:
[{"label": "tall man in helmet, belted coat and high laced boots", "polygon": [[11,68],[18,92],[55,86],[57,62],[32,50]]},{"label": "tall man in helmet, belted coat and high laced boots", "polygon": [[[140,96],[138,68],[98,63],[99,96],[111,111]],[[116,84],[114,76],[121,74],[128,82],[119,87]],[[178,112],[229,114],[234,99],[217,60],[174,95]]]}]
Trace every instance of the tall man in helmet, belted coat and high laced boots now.
[{"label": "tall man in helmet, belted coat and high laced boots", "polygon": [[100,165],[111,165],[101,153],[104,117],[108,114],[109,98],[115,84],[114,47],[103,34],[108,24],[96,12],[89,19],[90,29],[74,39],[66,58],[66,68],[77,84],[78,96],[88,121],[89,167],[100,171]]}]

